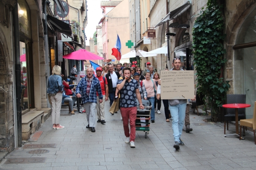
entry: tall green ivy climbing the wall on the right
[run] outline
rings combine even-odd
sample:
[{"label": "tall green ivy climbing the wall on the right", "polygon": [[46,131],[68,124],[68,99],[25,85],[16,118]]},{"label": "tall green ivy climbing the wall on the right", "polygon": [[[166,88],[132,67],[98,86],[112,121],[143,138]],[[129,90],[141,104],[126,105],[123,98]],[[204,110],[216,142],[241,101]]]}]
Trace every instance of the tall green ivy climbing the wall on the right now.
[{"label": "tall green ivy climbing the wall on the right", "polygon": [[201,11],[192,28],[198,93],[204,96],[204,101],[211,107],[212,121],[218,119],[220,106],[230,88],[229,82],[221,76],[226,62],[221,8],[223,6],[217,0],[208,0],[207,8]]}]

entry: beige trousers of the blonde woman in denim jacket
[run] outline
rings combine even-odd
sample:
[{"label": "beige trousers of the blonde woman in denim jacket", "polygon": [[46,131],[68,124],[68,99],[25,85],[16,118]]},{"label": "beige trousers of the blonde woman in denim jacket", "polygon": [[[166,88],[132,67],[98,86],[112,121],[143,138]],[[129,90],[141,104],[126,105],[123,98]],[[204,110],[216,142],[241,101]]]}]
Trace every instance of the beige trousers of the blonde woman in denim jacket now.
[{"label": "beige trousers of the blonde woman in denim jacket", "polygon": [[60,124],[62,93],[51,96],[52,124]]}]

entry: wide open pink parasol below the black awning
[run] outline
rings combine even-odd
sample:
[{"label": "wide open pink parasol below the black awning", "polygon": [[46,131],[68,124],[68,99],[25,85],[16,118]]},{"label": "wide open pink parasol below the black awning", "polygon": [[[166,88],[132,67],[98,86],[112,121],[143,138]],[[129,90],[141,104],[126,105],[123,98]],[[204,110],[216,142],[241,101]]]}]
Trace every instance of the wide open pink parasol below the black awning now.
[{"label": "wide open pink parasol below the black awning", "polygon": [[80,49],[78,51],[74,51],[70,54],[64,55],[63,58],[65,58],[65,59],[76,59],[76,60],[104,59],[102,57],[97,56],[96,54],[93,54],[89,51],[86,51],[85,49]]}]

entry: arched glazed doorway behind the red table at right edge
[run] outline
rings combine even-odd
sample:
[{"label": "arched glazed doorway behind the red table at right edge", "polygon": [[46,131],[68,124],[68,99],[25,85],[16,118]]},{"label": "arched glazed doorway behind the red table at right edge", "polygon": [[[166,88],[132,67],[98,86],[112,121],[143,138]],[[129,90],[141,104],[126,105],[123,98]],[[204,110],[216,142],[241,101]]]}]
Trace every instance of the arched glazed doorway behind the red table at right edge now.
[{"label": "arched glazed doorway behind the red table at right edge", "polygon": [[[251,10],[238,30],[235,44],[256,41],[256,10]],[[246,118],[253,117],[256,101],[256,47],[241,48],[234,52],[234,93],[246,94]]]}]

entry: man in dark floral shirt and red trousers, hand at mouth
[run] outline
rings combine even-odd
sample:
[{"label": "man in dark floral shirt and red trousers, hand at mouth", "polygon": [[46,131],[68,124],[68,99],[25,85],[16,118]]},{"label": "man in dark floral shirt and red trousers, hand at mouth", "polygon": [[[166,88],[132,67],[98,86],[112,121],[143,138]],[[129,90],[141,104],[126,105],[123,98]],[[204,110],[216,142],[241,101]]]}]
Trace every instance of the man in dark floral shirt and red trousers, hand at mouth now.
[{"label": "man in dark floral shirt and red trousers, hand at mouth", "polygon": [[[130,147],[135,147],[134,141],[136,136],[135,120],[137,116],[137,100],[140,103],[140,109],[144,109],[142,105],[140,91],[138,89],[138,82],[131,79],[131,68],[123,68],[123,79],[116,82],[116,88],[120,93],[120,111],[123,119],[123,126],[125,130],[125,143],[130,143]],[[129,119],[131,133],[129,133]]]}]

